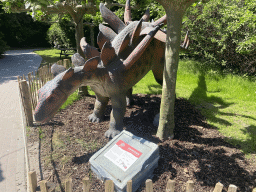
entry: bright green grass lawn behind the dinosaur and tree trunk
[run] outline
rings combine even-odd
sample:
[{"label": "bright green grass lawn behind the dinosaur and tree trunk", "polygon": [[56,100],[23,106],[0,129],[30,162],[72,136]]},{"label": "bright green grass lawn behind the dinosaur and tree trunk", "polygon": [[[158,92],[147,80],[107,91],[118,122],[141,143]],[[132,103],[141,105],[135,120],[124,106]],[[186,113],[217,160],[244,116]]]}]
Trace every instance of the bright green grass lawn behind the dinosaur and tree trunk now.
[{"label": "bright green grass lawn behind the dinosaur and tree trunk", "polygon": [[[36,51],[44,62],[59,60],[58,50]],[[237,75],[223,75],[213,70],[202,70],[193,60],[179,63],[176,95],[189,100],[215,127],[248,158],[256,153],[256,81]],[[89,91],[93,94],[92,91]],[[133,93],[161,94],[161,86],[149,72],[134,86]],[[77,92],[68,103],[78,100]],[[64,108],[63,106],[62,108]]]}]

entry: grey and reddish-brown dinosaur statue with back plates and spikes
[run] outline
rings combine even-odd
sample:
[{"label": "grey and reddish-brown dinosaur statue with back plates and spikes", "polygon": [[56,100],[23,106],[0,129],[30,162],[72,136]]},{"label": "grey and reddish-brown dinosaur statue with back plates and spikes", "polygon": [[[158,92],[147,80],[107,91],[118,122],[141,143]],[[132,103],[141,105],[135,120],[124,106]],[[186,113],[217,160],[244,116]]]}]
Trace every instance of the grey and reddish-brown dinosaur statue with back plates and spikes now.
[{"label": "grey and reddish-brown dinosaur statue with back plates and spikes", "polygon": [[[96,95],[90,121],[103,119],[111,98],[110,124],[105,136],[113,138],[123,129],[126,95],[131,92],[132,86],[150,70],[156,81],[162,83],[166,34],[160,30],[160,26],[166,23],[166,16],[149,23],[147,11],[140,21],[133,22],[129,0],[126,2],[125,23],[103,4],[100,4],[100,12],[113,29],[99,26],[97,41],[101,52],[88,45],[85,38],[81,39],[80,46],[87,61],[84,66],[69,68],[58,74],[39,90],[35,109],[37,122],[50,120],[71,93],[80,86],[89,85]],[[185,47],[187,41],[188,38],[185,38]]]}]

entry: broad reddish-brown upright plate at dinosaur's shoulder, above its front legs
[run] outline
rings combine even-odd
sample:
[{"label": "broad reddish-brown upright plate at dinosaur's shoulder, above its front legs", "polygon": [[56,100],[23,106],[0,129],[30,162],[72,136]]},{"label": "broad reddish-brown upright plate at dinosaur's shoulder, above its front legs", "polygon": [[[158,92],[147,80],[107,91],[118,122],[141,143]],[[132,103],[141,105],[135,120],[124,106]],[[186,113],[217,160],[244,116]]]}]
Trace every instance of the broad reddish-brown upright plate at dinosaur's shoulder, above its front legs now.
[{"label": "broad reddish-brown upright plate at dinosaur's shoulder, above its front legs", "polygon": [[101,61],[104,66],[107,66],[114,58],[117,57],[115,49],[112,47],[110,42],[106,42],[101,50]]}]

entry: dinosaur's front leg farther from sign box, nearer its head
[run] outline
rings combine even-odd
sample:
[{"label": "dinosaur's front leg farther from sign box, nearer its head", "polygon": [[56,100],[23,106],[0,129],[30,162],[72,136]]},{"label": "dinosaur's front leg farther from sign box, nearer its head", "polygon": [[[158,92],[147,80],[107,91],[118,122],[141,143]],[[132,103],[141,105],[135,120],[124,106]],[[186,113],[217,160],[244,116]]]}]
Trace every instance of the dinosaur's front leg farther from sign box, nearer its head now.
[{"label": "dinosaur's front leg farther from sign box, nearer its head", "polygon": [[94,104],[94,110],[93,110],[93,113],[88,116],[88,118],[89,118],[89,121],[91,122],[99,123],[104,119],[104,112],[108,104],[109,98],[103,97],[96,93],[95,95],[96,95],[96,101]]}]

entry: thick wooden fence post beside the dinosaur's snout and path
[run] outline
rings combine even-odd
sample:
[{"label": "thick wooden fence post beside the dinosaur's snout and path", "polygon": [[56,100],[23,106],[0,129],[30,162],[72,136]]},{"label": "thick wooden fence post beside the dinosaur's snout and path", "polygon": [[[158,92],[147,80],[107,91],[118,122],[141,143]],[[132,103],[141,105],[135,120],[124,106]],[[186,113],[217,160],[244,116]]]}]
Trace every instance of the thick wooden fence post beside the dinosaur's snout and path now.
[{"label": "thick wooden fence post beside the dinosaur's snout and path", "polygon": [[31,98],[29,94],[28,84],[26,80],[20,81],[21,87],[21,97],[23,100],[23,108],[27,120],[27,126],[33,126],[33,115],[32,115],[32,106],[31,106]]}]

